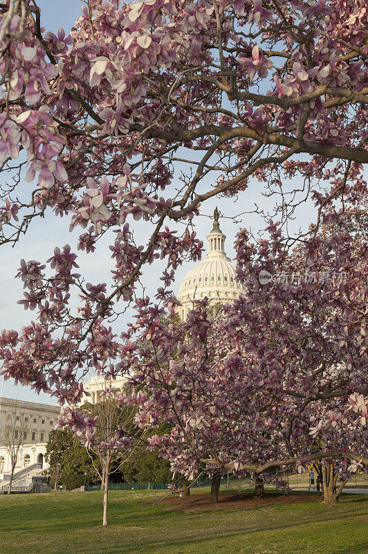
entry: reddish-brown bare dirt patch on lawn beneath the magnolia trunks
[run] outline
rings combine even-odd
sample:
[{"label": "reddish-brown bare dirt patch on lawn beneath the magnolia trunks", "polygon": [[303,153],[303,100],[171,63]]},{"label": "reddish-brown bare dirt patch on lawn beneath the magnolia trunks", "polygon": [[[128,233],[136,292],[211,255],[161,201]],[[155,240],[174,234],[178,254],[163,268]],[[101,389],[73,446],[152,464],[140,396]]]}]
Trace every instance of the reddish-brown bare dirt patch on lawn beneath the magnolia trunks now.
[{"label": "reddish-brown bare dirt patch on lawn beneath the magnolia trunks", "polygon": [[255,497],[254,492],[226,493],[219,495],[217,504],[210,503],[210,494],[190,494],[188,497],[172,495],[163,499],[168,510],[183,510],[184,512],[205,512],[208,510],[252,509],[270,504],[290,504],[298,502],[321,501],[318,494],[284,494],[266,492],[261,497]]}]

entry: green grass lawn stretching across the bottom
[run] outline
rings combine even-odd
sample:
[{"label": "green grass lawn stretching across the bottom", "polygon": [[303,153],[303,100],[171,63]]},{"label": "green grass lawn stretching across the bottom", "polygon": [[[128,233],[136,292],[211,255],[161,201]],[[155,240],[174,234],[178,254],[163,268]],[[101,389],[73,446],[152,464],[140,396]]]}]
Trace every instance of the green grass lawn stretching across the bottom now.
[{"label": "green grass lawn stretching across the bottom", "polygon": [[[162,496],[162,492],[158,496]],[[261,508],[183,512],[154,492],[0,496],[1,554],[367,554],[368,501],[346,495]],[[157,499],[157,497],[156,497]]]}]

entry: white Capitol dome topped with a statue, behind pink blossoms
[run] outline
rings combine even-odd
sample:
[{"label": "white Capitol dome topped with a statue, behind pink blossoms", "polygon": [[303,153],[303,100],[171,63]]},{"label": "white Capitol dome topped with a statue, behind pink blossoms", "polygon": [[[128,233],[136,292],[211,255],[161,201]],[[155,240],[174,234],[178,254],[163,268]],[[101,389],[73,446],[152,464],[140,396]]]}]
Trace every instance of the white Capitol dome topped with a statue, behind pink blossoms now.
[{"label": "white Capitol dome topped with a statue, behind pink blossoms", "polygon": [[225,253],[226,236],[219,226],[219,212],[214,211],[214,225],[208,238],[208,253],[203,261],[185,276],[178,293],[178,314],[181,320],[192,310],[195,300],[208,296],[213,304],[232,303],[242,292],[235,265]]}]

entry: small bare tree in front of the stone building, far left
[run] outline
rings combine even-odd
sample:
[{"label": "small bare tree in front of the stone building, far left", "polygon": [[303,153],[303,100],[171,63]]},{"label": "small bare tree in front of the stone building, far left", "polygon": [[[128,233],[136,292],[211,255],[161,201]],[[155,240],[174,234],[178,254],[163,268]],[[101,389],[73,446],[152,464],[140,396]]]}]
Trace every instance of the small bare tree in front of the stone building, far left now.
[{"label": "small bare tree in front of the stone building, far left", "polygon": [[[5,415],[5,414],[4,414]],[[0,442],[6,447],[10,458],[10,479],[8,494],[12,490],[12,479],[15,466],[21,458],[22,449],[28,432],[28,422],[24,415],[21,415],[19,406],[15,404],[6,419],[0,425]]]}]

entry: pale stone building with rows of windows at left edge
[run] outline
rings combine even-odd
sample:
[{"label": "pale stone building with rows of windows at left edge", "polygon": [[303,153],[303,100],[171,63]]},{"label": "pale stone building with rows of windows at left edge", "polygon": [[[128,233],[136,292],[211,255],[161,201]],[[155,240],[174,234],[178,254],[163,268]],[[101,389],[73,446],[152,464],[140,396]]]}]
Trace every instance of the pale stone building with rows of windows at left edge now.
[{"label": "pale stone building with rows of windows at left edge", "polygon": [[7,428],[15,425],[15,440],[19,436],[17,431],[22,431],[23,434],[19,440],[21,446],[15,473],[34,464],[39,466],[39,470],[46,469],[48,434],[57,425],[59,413],[58,406],[0,397],[0,481],[4,475],[10,473],[10,456],[3,442],[7,436]]}]

